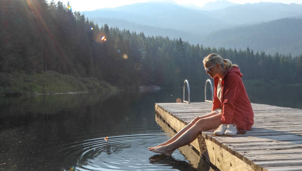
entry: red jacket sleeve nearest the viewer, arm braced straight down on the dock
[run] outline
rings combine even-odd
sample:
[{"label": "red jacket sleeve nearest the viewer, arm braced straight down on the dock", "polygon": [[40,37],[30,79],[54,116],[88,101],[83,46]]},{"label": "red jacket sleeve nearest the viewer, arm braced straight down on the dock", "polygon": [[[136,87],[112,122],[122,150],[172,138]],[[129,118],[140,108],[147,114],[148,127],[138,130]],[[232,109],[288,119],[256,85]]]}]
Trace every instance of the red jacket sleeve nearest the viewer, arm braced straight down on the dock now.
[{"label": "red jacket sleeve nearest the viewer, arm braced straight down on the dock", "polygon": [[229,73],[225,80],[224,86],[224,101],[222,104],[222,123],[232,124],[233,115],[235,112],[234,102],[239,95],[241,86],[241,78],[236,73]]}]

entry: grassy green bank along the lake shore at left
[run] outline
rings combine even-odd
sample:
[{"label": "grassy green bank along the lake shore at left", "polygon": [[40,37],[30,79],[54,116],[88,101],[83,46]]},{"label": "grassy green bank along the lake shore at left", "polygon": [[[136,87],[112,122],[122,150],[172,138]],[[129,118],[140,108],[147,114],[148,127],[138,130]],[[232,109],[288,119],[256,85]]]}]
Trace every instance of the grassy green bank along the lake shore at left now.
[{"label": "grassy green bank along the lake shore at left", "polygon": [[114,89],[117,88],[95,78],[80,78],[53,71],[35,74],[0,73],[0,95],[95,92]]}]

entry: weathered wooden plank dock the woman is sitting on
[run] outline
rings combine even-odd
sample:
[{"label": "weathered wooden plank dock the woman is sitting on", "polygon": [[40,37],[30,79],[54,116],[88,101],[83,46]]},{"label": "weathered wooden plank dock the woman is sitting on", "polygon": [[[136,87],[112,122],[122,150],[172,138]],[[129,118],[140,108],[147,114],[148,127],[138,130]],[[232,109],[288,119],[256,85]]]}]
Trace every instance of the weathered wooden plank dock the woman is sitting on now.
[{"label": "weathered wooden plank dock the woman is sitting on", "polygon": [[[254,125],[245,134],[202,131],[189,146],[221,171],[302,171],[302,109],[253,104]],[[155,103],[155,114],[179,131],[212,103]]]}]

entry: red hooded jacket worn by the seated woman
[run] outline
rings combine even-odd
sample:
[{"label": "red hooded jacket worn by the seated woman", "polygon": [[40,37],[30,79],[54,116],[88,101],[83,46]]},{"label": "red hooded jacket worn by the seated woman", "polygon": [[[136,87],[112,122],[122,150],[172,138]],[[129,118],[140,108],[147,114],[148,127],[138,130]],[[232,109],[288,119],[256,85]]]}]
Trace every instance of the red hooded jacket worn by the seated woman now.
[{"label": "red hooded jacket worn by the seated woman", "polygon": [[217,97],[219,78],[214,78],[213,108],[222,109],[222,124],[235,124],[237,129],[250,130],[254,124],[254,112],[241,80],[242,73],[236,66],[227,69],[222,79],[221,101]]}]

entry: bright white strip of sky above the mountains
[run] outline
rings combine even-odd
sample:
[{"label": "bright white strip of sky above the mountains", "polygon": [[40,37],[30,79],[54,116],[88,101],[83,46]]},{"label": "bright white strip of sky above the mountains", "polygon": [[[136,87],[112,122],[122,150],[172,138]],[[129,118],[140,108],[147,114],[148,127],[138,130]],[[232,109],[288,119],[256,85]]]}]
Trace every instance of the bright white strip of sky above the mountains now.
[{"label": "bright white strip of sky above the mountains", "polygon": [[[49,0],[50,1],[50,0]],[[58,0],[55,0],[58,1]],[[123,6],[132,3],[148,2],[148,1],[164,1],[164,2],[174,2],[178,4],[194,4],[196,6],[203,6],[207,2],[216,0],[61,0],[67,5],[73,8],[73,11],[89,11],[100,8],[113,8],[117,6]],[[257,3],[257,2],[281,2],[281,3],[298,3],[302,4],[302,0],[228,0],[234,3]]]}]

